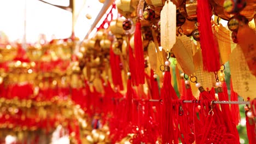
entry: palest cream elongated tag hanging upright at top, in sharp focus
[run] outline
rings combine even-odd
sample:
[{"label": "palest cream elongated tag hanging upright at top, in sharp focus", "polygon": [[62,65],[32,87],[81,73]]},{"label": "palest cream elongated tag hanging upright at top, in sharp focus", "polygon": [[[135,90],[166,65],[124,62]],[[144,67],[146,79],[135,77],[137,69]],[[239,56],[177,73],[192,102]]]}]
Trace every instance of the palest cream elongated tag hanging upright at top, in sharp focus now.
[{"label": "palest cream elongated tag hanging upright at top, in sharp focus", "polygon": [[176,42],[176,5],[166,1],[161,11],[161,46],[170,51]]}]

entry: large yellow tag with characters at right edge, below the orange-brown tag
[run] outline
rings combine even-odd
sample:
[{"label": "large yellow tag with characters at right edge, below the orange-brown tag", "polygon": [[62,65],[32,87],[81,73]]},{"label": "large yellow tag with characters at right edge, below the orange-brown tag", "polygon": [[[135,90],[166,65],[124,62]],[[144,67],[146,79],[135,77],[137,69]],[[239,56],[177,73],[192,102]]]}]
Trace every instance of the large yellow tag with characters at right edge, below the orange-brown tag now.
[{"label": "large yellow tag with characters at right edge, below the orange-brown tag", "polygon": [[232,51],[229,64],[234,91],[245,100],[256,98],[256,77],[250,73],[240,45]]}]

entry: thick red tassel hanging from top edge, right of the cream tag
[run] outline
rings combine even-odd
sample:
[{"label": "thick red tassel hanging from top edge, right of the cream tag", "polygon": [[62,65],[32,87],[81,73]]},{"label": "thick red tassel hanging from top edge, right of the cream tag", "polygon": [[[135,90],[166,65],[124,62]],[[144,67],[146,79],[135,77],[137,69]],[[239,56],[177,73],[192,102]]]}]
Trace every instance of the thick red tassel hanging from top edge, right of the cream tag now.
[{"label": "thick red tassel hanging from top edge, right of the cream tag", "polygon": [[218,71],[220,67],[218,43],[212,33],[211,8],[209,0],[197,0],[200,44],[203,67],[207,71]]}]

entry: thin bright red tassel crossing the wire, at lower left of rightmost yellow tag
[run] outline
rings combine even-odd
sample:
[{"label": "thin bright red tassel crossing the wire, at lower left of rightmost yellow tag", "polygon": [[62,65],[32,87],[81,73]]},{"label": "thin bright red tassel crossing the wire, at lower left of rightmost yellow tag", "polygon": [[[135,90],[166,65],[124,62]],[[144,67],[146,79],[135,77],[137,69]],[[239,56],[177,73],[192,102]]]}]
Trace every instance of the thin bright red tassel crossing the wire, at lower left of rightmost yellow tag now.
[{"label": "thin bright red tassel crossing the wire, at lower left of rightmost yellow tag", "polygon": [[[234,92],[231,79],[230,79],[230,90],[231,90],[230,100],[238,101],[238,94]],[[237,104],[232,104],[230,109],[231,109],[231,121],[232,123],[235,123],[236,125],[238,125],[238,123],[240,123],[240,120],[241,120],[239,106]]]}]

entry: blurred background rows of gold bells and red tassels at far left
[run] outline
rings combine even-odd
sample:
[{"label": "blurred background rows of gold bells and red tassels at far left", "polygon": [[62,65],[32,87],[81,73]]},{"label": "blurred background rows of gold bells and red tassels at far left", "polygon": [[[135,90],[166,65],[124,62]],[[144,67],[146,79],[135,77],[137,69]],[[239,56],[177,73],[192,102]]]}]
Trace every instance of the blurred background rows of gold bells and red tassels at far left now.
[{"label": "blurred background rows of gold bells and red tassels at far left", "polygon": [[[79,123],[80,133],[98,139],[98,130],[92,131],[84,107],[72,101],[69,93],[70,88],[80,88],[84,85],[84,81],[80,79],[83,67],[78,62],[80,55],[83,54],[78,52],[73,55],[73,47],[77,44],[78,39],[75,38],[53,40],[50,43],[43,41],[41,44],[28,46],[26,51],[19,43],[5,44],[0,48],[0,84],[3,86],[1,88],[17,84],[18,88],[30,85],[32,90],[25,92],[25,89],[16,89],[16,96],[1,90],[0,131],[4,134],[1,135],[1,139],[10,134],[24,140],[30,131],[35,135],[39,134],[37,131],[51,133],[59,124],[67,128],[73,120]],[[67,91],[59,92],[56,88]],[[47,89],[55,90],[42,95],[44,90],[49,92]],[[99,141],[102,141],[102,135],[103,141],[107,137],[105,131],[101,132]],[[23,136],[20,136],[21,133]],[[71,133],[71,140],[76,140],[76,135]]]}]

